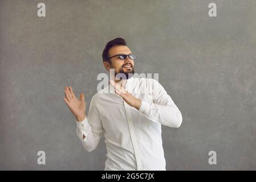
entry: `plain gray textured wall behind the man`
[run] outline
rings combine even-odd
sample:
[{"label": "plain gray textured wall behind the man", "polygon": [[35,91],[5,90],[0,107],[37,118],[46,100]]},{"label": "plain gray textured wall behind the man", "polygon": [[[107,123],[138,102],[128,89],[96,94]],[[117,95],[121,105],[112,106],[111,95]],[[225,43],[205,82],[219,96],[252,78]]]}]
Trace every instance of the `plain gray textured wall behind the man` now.
[{"label": "plain gray textured wall behind the man", "polygon": [[255,17],[254,0],[0,0],[0,169],[104,169],[104,138],[84,150],[64,86],[83,92],[88,108],[107,73],[103,48],[119,36],[139,55],[136,72],[160,73],[181,110],[179,129],[162,126],[166,169],[256,169]]}]

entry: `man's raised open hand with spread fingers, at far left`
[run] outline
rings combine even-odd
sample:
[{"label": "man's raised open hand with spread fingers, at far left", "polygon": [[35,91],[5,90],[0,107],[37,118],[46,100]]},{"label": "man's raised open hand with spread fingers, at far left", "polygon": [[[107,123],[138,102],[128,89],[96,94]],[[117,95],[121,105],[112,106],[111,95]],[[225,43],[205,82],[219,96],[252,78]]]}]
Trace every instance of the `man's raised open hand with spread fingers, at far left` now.
[{"label": "man's raised open hand with spread fingers, at far left", "polygon": [[65,86],[65,96],[64,101],[76,117],[76,120],[83,121],[86,118],[86,101],[84,100],[84,94],[80,93],[80,100],[78,100],[72,87]]}]

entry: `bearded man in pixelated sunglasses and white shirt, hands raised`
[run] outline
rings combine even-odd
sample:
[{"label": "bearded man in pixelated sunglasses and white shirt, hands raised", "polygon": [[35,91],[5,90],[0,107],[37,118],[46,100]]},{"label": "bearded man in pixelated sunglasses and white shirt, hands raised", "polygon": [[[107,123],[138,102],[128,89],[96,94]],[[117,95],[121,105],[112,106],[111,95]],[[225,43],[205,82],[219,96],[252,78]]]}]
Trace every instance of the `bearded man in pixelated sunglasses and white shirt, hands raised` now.
[{"label": "bearded man in pixelated sunglasses and white shirt, hands raised", "polygon": [[[166,170],[161,125],[180,127],[182,115],[165,89],[152,78],[136,78],[136,55],[125,40],[116,38],[105,46],[103,65],[115,76],[124,77],[110,84],[113,93],[97,92],[86,116],[84,94],[78,100],[71,86],[65,87],[64,101],[76,118],[76,133],[91,152],[104,135],[107,146],[105,170]],[[143,92],[142,92],[143,91]]]}]

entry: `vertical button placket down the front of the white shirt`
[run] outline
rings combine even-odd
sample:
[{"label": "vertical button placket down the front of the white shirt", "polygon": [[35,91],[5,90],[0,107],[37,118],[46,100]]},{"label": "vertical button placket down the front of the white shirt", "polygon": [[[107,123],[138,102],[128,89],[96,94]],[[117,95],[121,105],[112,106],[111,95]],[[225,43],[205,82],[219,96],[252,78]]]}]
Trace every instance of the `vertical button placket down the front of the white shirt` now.
[{"label": "vertical button placket down the front of the white shirt", "polygon": [[[129,85],[128,85],[128,81],[127,81],[127,83],[125,84],[125,89],[129,92],[128,88],[129,88]],[[138,144],[137,144],[136,133],[135,133],[135,129],[134,129],[134,126],[133,126],[131,113],[129,111],[129,105],[125,101],[124,101],[124,108],[125,108],[125,113],[126,113],[126,117],[127,117],[129,132],[130,132],[130,135],[131,135],[132,146],[133,146],[133,150],[134,150],[134,153],[135,153],[137,170],[141,171],[141,156],[139,154],[139,147],[138,147]]]}]

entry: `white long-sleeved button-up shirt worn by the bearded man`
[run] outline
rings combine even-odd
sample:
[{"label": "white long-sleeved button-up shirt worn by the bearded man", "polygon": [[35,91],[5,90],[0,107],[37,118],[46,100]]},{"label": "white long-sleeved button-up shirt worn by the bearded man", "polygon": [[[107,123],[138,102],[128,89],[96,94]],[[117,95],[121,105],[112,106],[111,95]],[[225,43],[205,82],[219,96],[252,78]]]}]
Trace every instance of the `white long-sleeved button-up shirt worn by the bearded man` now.
[{"label": "white long-sleeved button-up shirt worn by the bearded man", "polygon": [[[104,135],[107,160],[104,170],[166,170],[161,125],[180,127],[182,115],[158,81],[131,77],[125,89],[142,103],[129,106],[112,85],[97,92],[87,117],[76,121],[76,134],[91,152]],[[104,93],[105,92],[105,93]],[[83,139],[84,135],[84,139]]]}]

